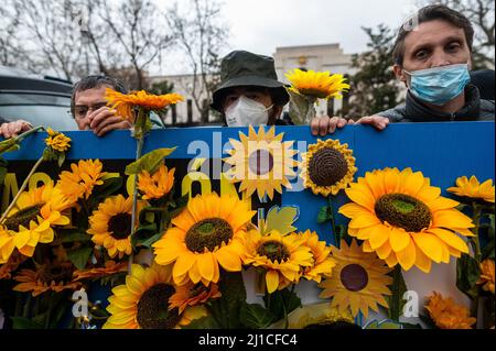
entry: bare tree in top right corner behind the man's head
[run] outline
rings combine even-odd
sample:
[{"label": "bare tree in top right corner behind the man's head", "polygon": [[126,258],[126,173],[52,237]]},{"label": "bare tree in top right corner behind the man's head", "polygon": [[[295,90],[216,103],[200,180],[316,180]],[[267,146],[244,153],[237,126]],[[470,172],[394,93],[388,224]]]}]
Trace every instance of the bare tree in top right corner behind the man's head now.
[{"label": "bare tree in top right corner behind the man's head", "polygon": [[444,4],[463,13],[474,25],[474,69],[495,66],[495,1],[494,0],[420,0],[419,6]]}]

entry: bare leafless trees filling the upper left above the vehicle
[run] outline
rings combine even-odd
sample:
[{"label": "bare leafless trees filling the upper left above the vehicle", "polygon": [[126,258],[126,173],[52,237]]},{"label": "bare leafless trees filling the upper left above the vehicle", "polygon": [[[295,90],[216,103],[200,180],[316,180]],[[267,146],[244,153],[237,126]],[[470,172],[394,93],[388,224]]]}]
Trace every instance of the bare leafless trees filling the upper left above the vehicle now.
[{"label": "bare leafless trees filling the upper left above the vehicle", "polygon": [[173,43],[152,0],[4,0],[0,14],[2,64],[69,80],[106,74],[147,88],[148,67]]}]

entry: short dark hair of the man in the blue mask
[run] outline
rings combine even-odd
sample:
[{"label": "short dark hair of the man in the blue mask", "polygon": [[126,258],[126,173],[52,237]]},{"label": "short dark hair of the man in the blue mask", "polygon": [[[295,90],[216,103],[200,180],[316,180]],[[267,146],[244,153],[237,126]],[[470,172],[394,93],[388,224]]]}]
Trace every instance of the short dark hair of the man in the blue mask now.
[{"label": "short dark hair of the man in the blue mask", "polygon": [[[465,32],[466,43],[468,45],[468,50],[472,53],[472,47],[474,45],[474,28],[471,23],[471,21],[464,17],[462,13],[450,9],[446,6],[443,4],[431,4],[428,7],[424,7],[419,10],[419,12],[416,14],[416,19],[418,21],[418,24],[430,22],[434,20],[444,20],[446,22],[450,22],[454,26],[457,26],[460,29],[463,29]],[[411,20],[411,19],[410,19]],[[403,23],[399,31],[398,36],[395,42],[395,47],[392,50],[392,59],[395,64],[402,65],[403,58],[405,58],[405,39],[410,33],[409,30],[407,30],[406,24],[410,21],[407,21]]]}]

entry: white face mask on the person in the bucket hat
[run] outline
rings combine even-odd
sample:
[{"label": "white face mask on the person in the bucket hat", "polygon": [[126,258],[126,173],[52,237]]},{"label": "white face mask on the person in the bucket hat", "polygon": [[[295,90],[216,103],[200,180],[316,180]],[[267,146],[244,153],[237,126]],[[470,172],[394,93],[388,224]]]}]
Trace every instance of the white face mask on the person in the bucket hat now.
[{"label": "white face mask on the person in the bucket hat", "polygon": [[269,110],[262,103],[241,96],[226,110],[228,127],[266,125],[269,122]]}]

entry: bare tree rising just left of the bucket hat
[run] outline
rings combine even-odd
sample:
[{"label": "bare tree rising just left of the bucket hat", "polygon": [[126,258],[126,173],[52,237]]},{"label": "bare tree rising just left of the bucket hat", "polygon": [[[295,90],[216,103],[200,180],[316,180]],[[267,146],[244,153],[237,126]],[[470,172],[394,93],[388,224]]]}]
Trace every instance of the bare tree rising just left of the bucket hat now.
[{"label": "bare tree rising just left of the bucket hat", "polygon": [[227,45],[228,28],[219,22],[220,3],[213,0],[191,0],[186,12],[177,3],[165,14],[172,35],[181,52],[186,56],[191,79],[182,87],[193,99],[202,116],[208,122],[208,105],[219,83],[218,52]]}]

